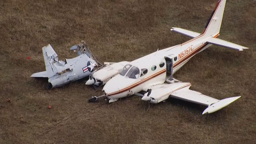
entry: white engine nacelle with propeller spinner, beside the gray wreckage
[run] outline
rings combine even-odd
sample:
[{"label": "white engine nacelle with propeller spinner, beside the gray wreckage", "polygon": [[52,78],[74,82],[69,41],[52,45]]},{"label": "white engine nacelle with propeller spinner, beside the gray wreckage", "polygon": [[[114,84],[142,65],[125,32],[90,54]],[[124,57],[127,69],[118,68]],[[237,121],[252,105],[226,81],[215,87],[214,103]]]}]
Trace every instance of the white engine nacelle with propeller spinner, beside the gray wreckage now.
[{"label": "white engine nacelle with propeller spinner, beside the gray wreckage", "polygon": [[90,79],[85,83],[86,85],[104,85],[106,82],[108,82],[112,77],[119,74],[123,67],[129,62],[122,61],[117,62],[111,65],[108,65],[98,71],[93,72],[90,75]]}]

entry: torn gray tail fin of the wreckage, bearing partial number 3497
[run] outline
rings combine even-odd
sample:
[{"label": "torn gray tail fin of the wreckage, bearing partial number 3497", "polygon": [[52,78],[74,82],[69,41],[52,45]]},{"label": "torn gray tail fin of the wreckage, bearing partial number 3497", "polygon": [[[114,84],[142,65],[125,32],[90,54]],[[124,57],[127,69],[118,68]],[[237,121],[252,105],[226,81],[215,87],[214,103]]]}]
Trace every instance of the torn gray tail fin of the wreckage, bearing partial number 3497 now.
[{"label": "torn gray tail fin of the wreckage, bearing partial number 3497", "polygon": [[55,61],[58,61],[58,55],[57,53],[53,50],[51,45],[47,45],[42,47],[43,55],[44,55],[44,60],[45,60],[45,69],[47,72],[48,77],[54,76],[54,69],[52,68],[52,64]]}]

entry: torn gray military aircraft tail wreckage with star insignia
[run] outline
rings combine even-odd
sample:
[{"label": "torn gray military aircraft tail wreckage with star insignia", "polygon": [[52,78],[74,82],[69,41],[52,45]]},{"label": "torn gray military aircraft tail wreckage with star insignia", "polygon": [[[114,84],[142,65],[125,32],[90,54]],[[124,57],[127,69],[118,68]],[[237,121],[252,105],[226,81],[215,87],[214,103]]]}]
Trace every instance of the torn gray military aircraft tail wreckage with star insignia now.
[{"label": "torn gray military aircraft tail wreckage with star insignia", "polygon": [[95,69],[104,67],[94,58],[84,41],[70,49],[77,51],[79,56],[65,59],[64,62],[58,60],[58,55],[50,44],[43,47],[46,71],[34,73],[31,77],[48,77],[47,89],[51,89],[82,79],[89,76]]}]

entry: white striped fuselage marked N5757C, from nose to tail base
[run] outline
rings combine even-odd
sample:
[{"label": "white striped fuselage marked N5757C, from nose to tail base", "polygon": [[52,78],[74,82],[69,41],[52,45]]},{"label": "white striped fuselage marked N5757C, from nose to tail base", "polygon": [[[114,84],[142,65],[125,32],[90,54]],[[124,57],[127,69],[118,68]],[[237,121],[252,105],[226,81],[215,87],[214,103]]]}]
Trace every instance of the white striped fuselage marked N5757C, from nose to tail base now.
[{"label": "white striped fuselage marked N5757C, from nose to tail base", "polygon": [[[152,85],[164,83],[167,73],[177,72],[193,56],[211,46],[206,43],[207,39],[218,36],[219,34],[205,37],[202,34],[180,45],[153,52],[128,63],[130,67],[125,74],[121,75],[121,72],[105,84],[103,87],[105,96],[110,99],[122,98],[140,91],[147,91],[147,87]],[[172,66],[171,72],[168,72],[170,67],[168,68],[167,64]],[[138,69],[139,72],[137,72]],[[147,72],[142,74],[145,69]],[[136,75],[129,78],[131,74],[129,71],[132,70]]]}]

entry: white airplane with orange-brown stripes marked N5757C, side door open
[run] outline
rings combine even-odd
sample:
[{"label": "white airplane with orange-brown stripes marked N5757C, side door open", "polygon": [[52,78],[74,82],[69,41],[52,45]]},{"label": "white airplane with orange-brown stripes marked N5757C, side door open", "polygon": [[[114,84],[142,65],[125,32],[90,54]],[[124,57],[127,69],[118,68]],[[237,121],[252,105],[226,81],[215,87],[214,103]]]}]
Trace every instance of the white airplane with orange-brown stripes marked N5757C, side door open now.
[{"label": "white airplane with orange-brown stripes marked N5757C, side door open", "polygon": [[[208,106],[202,114],[213,113],[240,98],[241,96],[222,100],[215,99],[200,92],[189,90],[190,83],[180,82],[172,77],[193,56],[211,45],[239,51],[248,49],[217,38],[225,4],[226,0],[218,1],[215,10],[206,24],[205,30],[201,34],[182,28],[172,28],[171,31],[178,32],[192,39],[180,45],[162,49],[129,62],[119,74],[106,82],[103,87],[104,94],[99,97],[104,96],[111,103],[117,101],[118,98],[134,94],[142,96],[143,101],[154,104],[173,97]],[[165,81],[168,83],[165,83]],[[140,94],[139,92],[142,91],[146,93],[144,95]],[[92,97],[89,101],[96,101],[99,97]]]}]

